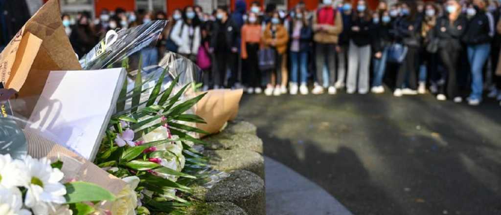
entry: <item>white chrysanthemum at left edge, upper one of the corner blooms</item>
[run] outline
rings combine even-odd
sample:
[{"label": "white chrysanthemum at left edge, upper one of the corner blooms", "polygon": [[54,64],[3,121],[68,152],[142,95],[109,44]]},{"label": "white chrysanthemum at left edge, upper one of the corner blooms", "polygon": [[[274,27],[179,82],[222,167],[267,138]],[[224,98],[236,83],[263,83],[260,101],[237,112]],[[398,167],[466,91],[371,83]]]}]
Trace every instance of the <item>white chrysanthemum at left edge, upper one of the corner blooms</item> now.
[{"label": "white chrysanthemum at left edge, upper one of the corner blooms", "polygon": [[26,167],[21,160],[12,159],[10,154],[0,154],[0,185],[6,188],[28,184]]}]

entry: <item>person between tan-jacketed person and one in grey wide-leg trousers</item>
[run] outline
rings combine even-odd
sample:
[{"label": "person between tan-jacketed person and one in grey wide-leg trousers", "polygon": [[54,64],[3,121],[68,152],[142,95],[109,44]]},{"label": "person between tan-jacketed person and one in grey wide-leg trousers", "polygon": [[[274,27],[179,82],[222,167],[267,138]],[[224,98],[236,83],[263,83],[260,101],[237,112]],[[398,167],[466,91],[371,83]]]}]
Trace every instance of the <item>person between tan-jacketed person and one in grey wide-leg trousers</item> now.
[{"label": "person between tan-jacketed person and one in grey wide-leg trousers", "polygon": [[339,34],[338,45],[336,50],[338,52],[338,77],[334,84],[337,89],[342,89],[345,86],[345,75],[347,69],[347,56],[348,47],[350,44],[349,33],[351,28],[351,17],[352,17],[352,0],[344,0],[342,7],[342,18],[343,18],[343,31]]}]

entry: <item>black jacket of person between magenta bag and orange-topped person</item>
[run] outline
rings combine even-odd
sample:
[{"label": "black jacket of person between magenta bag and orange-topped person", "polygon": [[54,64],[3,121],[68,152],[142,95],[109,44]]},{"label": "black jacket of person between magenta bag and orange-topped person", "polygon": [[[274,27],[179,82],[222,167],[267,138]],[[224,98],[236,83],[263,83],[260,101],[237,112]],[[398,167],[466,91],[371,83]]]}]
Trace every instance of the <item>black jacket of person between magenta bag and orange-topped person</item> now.
[{"label": "black jacket of person between magenta bag and orange-topped person", "polygon": [[[227,48],[230,50],[232,47],[238,48],[240,44],[238,43],[238,36],[240,35],[240,29],[236,25],[236,23],[228,17],[226,22],[221,23],[221,21],[215,21],[212,26],[212,35],[210,46],[214,48],[214,50],[218,50],[218,47]],[[225,44],[218,44],[218,41],[222,41],[223,38],[220,36],[224,36]]]}]

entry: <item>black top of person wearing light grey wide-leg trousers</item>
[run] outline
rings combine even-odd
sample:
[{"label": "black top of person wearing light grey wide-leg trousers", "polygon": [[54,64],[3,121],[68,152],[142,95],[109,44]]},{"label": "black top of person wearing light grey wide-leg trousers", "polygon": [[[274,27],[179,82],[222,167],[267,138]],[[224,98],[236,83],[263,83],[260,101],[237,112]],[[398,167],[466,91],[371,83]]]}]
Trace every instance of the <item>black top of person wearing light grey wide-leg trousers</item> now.
[{"label": "black top of person wearing light grey wide-leg trousers", "polygon": [[[352,27],[358,26],[360,28],[359,31],[353,31]],[[350,39],[358,46],[365,46],[372,43],[371,32],[374,32],[374,25],[372,24],[371,19],[365,19],[356,17],[351,21],[350,27]]]}]

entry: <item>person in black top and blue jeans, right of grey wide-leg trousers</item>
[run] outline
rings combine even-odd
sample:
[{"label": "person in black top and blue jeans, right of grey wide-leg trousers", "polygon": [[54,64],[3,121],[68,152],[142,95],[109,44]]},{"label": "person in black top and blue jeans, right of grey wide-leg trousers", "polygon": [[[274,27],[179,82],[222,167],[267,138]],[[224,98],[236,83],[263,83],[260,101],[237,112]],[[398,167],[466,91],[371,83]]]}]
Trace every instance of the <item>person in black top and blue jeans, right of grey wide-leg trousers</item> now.
[{"label": "person in black top and blue jeans, right of grey wide-leg trousers", "polygon": [[374,38],[374,59],[373,69],[374,78],[371,91],[373,93],[383,93],[383,77],[386,69],[386,58],[388,56],[389,46],[392,42],[390,31],[392,29],[391,17],[388,10],[381,11],[380,24],[377,25],[377,34]]}]

